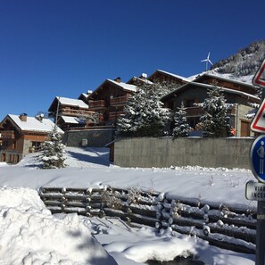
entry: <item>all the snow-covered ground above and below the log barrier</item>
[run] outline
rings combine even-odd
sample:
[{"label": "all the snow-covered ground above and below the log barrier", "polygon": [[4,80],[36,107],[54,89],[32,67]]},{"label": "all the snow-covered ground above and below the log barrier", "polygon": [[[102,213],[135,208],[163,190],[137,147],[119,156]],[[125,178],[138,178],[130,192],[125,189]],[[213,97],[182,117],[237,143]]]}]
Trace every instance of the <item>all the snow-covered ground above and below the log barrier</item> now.
[{"label": "all the snow-covered ground above and below the log barrier", "polygon": [[133,265],[188,254],[209,265],[254,264],[253,255],[222,250],[170,230],[158,235],[145,226],[129,228],[120,219],[52,215],[37,195],[41,186],[137,186],[255,207],[244,197],[245,183],[255,180],[250,170],[122,169],[109,163],[106,149],[67,148],[67,155],[68,167],[60,170],[40,170],[36,154],[14,166],[0,163],[0,264]]}]

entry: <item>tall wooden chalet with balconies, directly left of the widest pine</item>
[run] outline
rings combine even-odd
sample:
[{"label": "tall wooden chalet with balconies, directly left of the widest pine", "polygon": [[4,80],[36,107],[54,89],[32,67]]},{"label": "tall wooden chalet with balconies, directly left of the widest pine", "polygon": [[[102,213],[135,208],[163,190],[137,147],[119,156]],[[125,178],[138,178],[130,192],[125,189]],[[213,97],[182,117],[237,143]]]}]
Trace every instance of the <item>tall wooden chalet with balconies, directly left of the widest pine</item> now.
[{"label": "tall wooden chalet with balconies, directly left of the widest pine", "polygon": [[133,84],[123,83],[120,78],[106,79],[88,96],[89,111],[96,112],[102,119],[100,125],[115,125],[128,98],[137,90]]}]

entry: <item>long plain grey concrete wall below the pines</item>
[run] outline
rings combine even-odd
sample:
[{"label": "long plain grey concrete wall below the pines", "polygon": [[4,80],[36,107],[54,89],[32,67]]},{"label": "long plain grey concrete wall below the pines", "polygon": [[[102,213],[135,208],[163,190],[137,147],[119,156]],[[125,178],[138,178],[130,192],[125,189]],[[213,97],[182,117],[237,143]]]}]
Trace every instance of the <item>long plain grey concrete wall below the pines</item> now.
[{"label": "long plain grey concrete wall below the pines", "polygon": [[119,138],[114,164],[120,167],[202,166],[250,169],[253,138]]}]

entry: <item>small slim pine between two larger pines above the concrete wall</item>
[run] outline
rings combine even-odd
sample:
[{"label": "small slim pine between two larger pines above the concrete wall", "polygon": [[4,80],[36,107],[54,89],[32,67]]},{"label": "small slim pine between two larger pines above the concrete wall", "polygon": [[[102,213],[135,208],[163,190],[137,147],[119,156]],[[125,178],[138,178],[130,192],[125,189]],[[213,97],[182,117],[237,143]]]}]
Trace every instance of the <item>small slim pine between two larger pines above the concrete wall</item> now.
[{"label": "small slim pine between two larger pines above the concrete wall", "polygon": [[181,103],[180,108],[174,113],[174,128],[172,137],[188,137],[188,133],[191,131],[191,127],[186,122],[186,111],[184,103]]}]

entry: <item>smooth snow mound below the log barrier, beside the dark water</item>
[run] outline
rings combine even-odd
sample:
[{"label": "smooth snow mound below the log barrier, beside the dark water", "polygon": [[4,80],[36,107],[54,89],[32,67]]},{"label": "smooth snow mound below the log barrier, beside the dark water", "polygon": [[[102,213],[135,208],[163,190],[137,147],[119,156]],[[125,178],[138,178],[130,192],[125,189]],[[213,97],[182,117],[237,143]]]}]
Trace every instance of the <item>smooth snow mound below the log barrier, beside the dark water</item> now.
[{"label": "smooth snow mound below the log barrier, beside the dark water", "polygon": [[84,219],[84,222],[119,264],[173,261],[176,257],[197,254],[195,241],[172,232],[170,228],[157,234],[155,228],[130,228],[119,218],[92,218],[89,221]]}]

